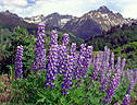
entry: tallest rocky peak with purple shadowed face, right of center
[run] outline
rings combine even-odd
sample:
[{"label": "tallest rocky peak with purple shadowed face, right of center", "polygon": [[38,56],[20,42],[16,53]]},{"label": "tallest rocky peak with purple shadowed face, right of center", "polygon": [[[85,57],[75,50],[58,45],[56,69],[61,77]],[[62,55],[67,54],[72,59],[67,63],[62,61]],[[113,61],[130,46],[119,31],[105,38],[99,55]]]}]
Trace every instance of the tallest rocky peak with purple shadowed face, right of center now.
[{"label": "tallest rocky peak with purple shadowed face, right of center", "polygon": [[[132,19],[124,19],[122,14],[114,13],[103,5],[98,10],[85,13],[82,18],[71,20],[63,28],[82,38],[89,38],[91,35],[109,31],[112,26],[130,25],[134,21]],[[83,28],[84,32],[82,31]]]}]

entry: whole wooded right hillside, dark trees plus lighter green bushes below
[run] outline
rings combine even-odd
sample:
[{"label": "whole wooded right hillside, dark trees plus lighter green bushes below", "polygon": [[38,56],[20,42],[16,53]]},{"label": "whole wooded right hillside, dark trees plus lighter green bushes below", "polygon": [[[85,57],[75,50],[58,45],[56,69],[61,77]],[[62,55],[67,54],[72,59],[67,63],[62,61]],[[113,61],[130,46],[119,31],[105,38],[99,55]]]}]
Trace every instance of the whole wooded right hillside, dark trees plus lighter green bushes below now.
[{"label": "whole wooded right hillside, dark trees plus lighter green bushes below", "polygon": [[[114,51],[115,58],[126,58],[126,69],[137,68],[137,24],[130,26],[124,24],[122,27],[114,26],[109,32],[95,35],[85,40],[87,45],[92,45],[96,51],[103,50],[108,46]],[[115,59],[116,60],[116,59]]]}]

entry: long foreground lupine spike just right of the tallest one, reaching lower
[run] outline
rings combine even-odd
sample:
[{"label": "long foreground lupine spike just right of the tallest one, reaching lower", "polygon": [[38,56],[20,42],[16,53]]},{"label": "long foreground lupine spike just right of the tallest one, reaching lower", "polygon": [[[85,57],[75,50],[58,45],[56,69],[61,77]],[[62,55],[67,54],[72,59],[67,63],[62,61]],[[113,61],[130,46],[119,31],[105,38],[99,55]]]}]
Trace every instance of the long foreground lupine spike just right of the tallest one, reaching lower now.
[{"label": "long foreground lupine spike just right of the tallest one, reaching lower", "polygon": [[58,73],[58,45],[52,45],[50,47],[48,59],[46,88],[53,89],[53,81]]}]

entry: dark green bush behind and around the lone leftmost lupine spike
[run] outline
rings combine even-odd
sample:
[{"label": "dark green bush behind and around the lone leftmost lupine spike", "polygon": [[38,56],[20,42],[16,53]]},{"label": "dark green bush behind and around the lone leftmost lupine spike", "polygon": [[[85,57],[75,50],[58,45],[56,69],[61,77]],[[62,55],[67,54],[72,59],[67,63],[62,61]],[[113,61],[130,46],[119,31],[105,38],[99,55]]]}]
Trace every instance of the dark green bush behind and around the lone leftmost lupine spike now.
[{"label": "dark green bush behind and around the lone leftmost lupine spike", "polygon": [[4,61],[1,61],[0,71],[1,72],[9,72],[8,66],[14,67],[14,58],[16,54],[16,48],[20,45],[24,46],[24,56],[23,56],[23,66],[24,66],[24,73],[28,72],[32,68],[32,63],[35,59],[35,37],[33,35],[28,35],[25,28],[15,28],[16,33],[10,35],[10,46],[5,47]]}]

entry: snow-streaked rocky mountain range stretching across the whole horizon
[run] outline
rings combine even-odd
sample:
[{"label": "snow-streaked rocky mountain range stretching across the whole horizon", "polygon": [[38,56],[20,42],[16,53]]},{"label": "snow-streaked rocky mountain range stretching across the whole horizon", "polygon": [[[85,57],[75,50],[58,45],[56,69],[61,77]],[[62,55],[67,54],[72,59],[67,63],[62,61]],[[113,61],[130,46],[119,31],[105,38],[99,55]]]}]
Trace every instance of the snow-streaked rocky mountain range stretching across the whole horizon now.
[{"label": "snow-streaked rocky mountain range stretching across the whole horizon", "polygon": [[104,31],[109,31],[112,26],[122,26],[123,24],[130,25],[134,22],[137,21],[134,19],[125,19],[122,14],[114,13],[105,5],[100,7],[98,10],[91,10],[80,18],[68,14],[62,15],[55,12],[47,16],[40,14],[23,19],[10,11],[0,13],[0,24],[3,26],[22,25],[28,28],[36,28],[38,23],[45,23],[46,25],[54,28],[68,31],[84,39]]}]

